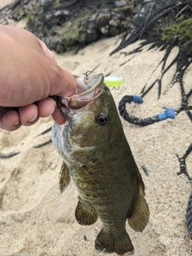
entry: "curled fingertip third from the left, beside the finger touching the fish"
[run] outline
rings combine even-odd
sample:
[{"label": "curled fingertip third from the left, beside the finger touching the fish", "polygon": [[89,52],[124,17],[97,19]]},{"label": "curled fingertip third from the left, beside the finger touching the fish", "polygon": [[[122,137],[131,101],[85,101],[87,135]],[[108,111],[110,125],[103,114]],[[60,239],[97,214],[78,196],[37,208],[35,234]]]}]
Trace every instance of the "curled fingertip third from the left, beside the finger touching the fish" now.
[{"label": "curled fingertip third from the left, beside the finger touching the fish", "polygon": [[37,102],[37,106],[38,106],[38,116],[40,118],[46,118],[54,113],[54,110],[56,109],[57,104],[53,98],[45,98],[42,101]]}]

